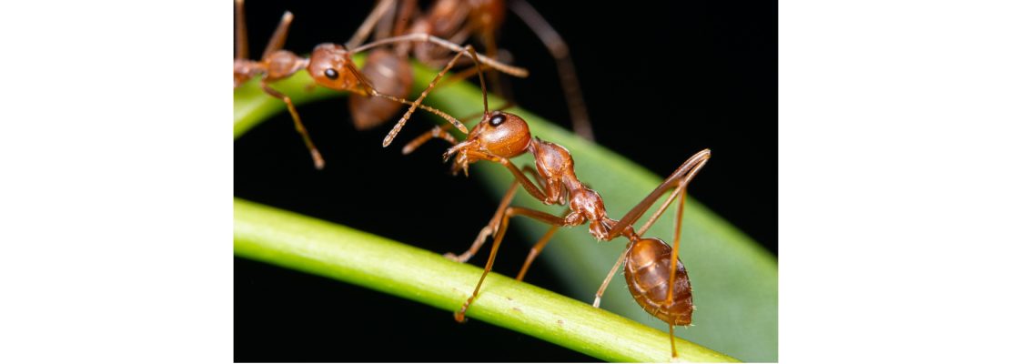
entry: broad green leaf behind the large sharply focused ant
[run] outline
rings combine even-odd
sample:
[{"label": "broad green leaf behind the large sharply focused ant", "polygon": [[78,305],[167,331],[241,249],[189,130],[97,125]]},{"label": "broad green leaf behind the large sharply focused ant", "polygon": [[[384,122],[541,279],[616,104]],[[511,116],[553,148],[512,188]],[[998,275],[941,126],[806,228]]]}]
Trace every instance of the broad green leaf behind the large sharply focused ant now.
[{"label": "broad green leaf behind the large sharply focused ant", "polygon": [[[276,84],[274,87],[291,95],[296,103],[329,96],[326,92],[305,92],[303,85],[307,85],[310,77],[304,72],[299,74],[300,76],[288,83]],[[433,70],[418,66],[415,74],[416,87],[420,89],[427,85],[435,73]],[[234,99],[234,138],[243,135],[255,123],[283,109],[282,102],[268,96],[248,95],[238,91]],[[497,106],[501,101],[490,98],[489,103]],[[482,105],[479,90],[467,83],[449,85],[433,92],[426,99],[426,104],[452,115],[475,114],[481,110]],[[584,141],[537,115],[519,108],[509,111],[524,117],[534,136],[561,144],[573,153],[578,177],[598,191],[611,217],[622,217],[662,180],[661,176],[598,145]],[[423,115],[424,112],[419,112],[415,117]],[[476,120],[464,121],[470,125]],[[676,155],[677,167],[689,155]],[[525,165],[533,163],[533,159],[521,157],[515,162],[518,165]],[[701,173],[710,173],[712,162],[708,162]],[[512,180],[511,174],[504,168],[485,162],[472,166],[471,177],[481,179],[496,197],[505,192]],[[696,179],[690,187],[690,194],[697,195]],[[514,203],[554,214],[562,211],[558,206],[551,208],[542,206],[526,193],[519,193]],[[652,210],[656,207],[657,205],[652,207]],[[671,227],[675,213],[675,207],[669,208],[646,236],[671,242]],[[680,258],[689,272],[697,309],[693,316],[694,326],[680,328],[677,330],[678,336],[748,361],[777,361],[777,262],[774,256],[692,197],[687,199],[683,223]],[[512,228],[524,228],[531,241],[506,242],[506,244],[533,244],[548,227],[526,218],[511,220],[509,224],[514,226]],[[562,228],[549,243],[541,259],[548,261],[564,279],[570,281],[569,285],[573,289],[571,296],[590,303],[625,245],[623,239],[597,243],[583,226]],[[475,259],[483,261],[487,256],[484,253],[486,251],[487,249],[483,249],[481,258]],[[636,304],[625,287],[622,274],[619,275],[613,278],[602,298],[601,307],[652,327],[667,330],[664,323],[647,314]],[[486,280],[485,284],[487,287],[489,281]],[[473,283],[463,285],[461,289],[468,290],[471,287]],[[464,296],[459,297],[462,299]],[[535,332],[527,333],[538,335]]]}]

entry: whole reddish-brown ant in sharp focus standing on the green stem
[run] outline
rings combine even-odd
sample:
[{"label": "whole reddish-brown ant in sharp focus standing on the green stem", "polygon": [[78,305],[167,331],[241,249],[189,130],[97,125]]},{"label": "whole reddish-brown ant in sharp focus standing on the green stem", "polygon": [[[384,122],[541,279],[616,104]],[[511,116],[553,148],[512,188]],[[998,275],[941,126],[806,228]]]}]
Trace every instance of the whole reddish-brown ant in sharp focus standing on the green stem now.
[{"label": "whole reddish-brown ant in sharp focus standing on the green stem", "polygon": [[[474,52],[471,48],[467,49],[467,51]],[[451,64],[463,53],[458,53],[457,57],[449,61],[449,64],[436,76],[436,81],[443,76]],[[477,58],[475,57],[475,59]],[[479,68],[480,72],[480,63],[475,61],[475,66]],[[452,144],[452,147],[447,149],[442,157],[446,161],[450,157],[453,159],[454,171],[458,168],[463,169],[466,174],[468,166],[471,163],[488,160],[501,164],[514,175],[514,181],[499,202],[495,215],[481,229],[470,249],[460,255],[446,254],[446,257],[449,259],[465,262],[477,253],[488,237],[494,233],[492,250],[489,253],[487,263],[485,263],[484,272],[481,274],[481,278],[478,279],[478,284],[475,287],[474,293],[464,302],[461,309],[454,313],[457,321],[463,322],[465,320],[468,308],[470,308],[471,303],[478,297],[485,276],[491,271],[511,217],[527,216],[551,225],[548,231],[531,249],[523,267],[521,267],[520,272],[517,274],[517,280],[524,279],[524,274],[527,273],[531,263],[541,253],[545,245],[548,244],[556,229],[561,226],[577,226],[589,222],[588,230],[598,241],[610,241],[618,237],[625,237],[629,241],[623,254],[620,255],[620,258],[615,261],[614,266],[612,266],[605,277],[597,294],[595,294],[593,306],[599,306],[601,296],[608,287],[608,282],[620,266],[624,265],[627,285],[634,300],[645,311],[668,324],[673,358],[677,358],[675,326],[689,325],[694,310],[690,280],[687,276],[686,267],[679,260],[678,256],[680,231],[683,223],[683,207],[686,201],[687,186],[704,164],[707,163],[708,158],[711,156],[710,150],[704,149],[687,159],[661,185],[648,194],[644,200],[631,208],[623,218],[614,220],[608,217],[601,196],[585,186],[577,177],[574,172],[573,157],[566,148],[551,142],[542,141],[537,137],[532,138],[527,122],[520,116],[498,110],[488,110],[488,96],[484,79],[481,79],[484,112],[482,113],[481,121],[474,125],[465,141],[457,143],[455,138],[446,128],[436,126],[432,132],[416,138],[404,150],[405,153],[410,153],[430,139],[442,139]],[[415,101],[415,104],[421,102],[427,91],[426,89],[422,96]],[[408,114],[413,112],[413,109],[414,106],[412,105],[411,109],[408,110]],[[519,168],[509,160],[509,158],[525,153],[530,153],[534,156],[534,168],[530,166]],[[526,173],[530,173],[535,180],[532,181]],[[556,216],[525,207],[509,206],[509,202],[516,195],[518,187],[523,187],[524,191],[527,191],[529,195],[545,205],[566,205],[568,209],[561,216]],[[634,222],[669,190],[673,190],[673,192],[661,207],[651,215],[640,229],[634,230]],[[676,217],[673,247],[669,247],[657,238],[643,238],[644,232],[661,217],[665,208],[677,199],[680,202],[678,206],[679,212]]]}]

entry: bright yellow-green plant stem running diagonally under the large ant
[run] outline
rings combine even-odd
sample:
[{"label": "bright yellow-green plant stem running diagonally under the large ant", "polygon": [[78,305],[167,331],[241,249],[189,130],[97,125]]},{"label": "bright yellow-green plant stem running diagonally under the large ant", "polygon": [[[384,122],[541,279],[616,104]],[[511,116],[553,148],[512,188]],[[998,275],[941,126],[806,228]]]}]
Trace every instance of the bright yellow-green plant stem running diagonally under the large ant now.
[{"label": "bright yellow-green plant stem running diagonally under the large ant", "polygon": [[[481,275],[478,267],[435,253],[240,199],[233,218],[237,256],[421,302],[449,311],[450,320]],[[607,361],[660,362],[671,355],[659,330],[495,273],[468,316]],[[676,345],[682,361],[736,361],[680,339]]]}]

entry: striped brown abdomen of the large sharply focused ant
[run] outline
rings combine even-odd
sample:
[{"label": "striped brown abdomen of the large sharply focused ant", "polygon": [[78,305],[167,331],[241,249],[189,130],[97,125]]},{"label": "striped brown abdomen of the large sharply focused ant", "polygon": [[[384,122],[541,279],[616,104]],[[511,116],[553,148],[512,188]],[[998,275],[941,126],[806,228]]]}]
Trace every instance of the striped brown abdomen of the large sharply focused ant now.
[{"label": "striped brown abdomen of the large sharply focused ant", "polygon": [[683,262],[677,259],[673,301],[667,302],[669,259],[673,248],[657,238],[641,239],[629,247],[626,269],[627,287],[634,300],[654,317],[672,325],[690,324],[693,294]]}]

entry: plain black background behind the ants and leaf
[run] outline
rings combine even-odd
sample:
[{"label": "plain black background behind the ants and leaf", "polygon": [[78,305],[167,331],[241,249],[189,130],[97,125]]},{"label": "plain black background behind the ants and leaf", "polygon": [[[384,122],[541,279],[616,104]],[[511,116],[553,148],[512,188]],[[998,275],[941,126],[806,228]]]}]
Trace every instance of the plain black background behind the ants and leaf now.
[{"label": "plain black background behind the ants and leaf", "polygon": [[[571,46],[598,143],[659,175],[711,148],[691,195],[777,253],[777,4],[533,5]],[[345,42],[372,2],[247,7],[251,52],[258,55],[284,10],[294,13],[285,48],[307,53],[318,43]],[[569,125],[552,58],[512,13],[499,46],[531,71],[512,80],[519,104]],[[280,114],[234,142],[235,196],[437,253],[466,249],[494,212],[480,185],[448,174],[440,143],[411,156],[382,149],[391,123],[354,131],[345,99],[299,111],[326,169],[312,167],[289,116]],[[429,126],[412,121],[400,139]],[[529,242],[514,231],[506,241]],[[516,272],[529,248],[503,245],[495,270]],[[367,289],[240,258],[233,263],[236,361],[593,360],[478,320],[458,324],[450,312]],[[545,264],[539,259],[528,281],[564,292]]]}]

